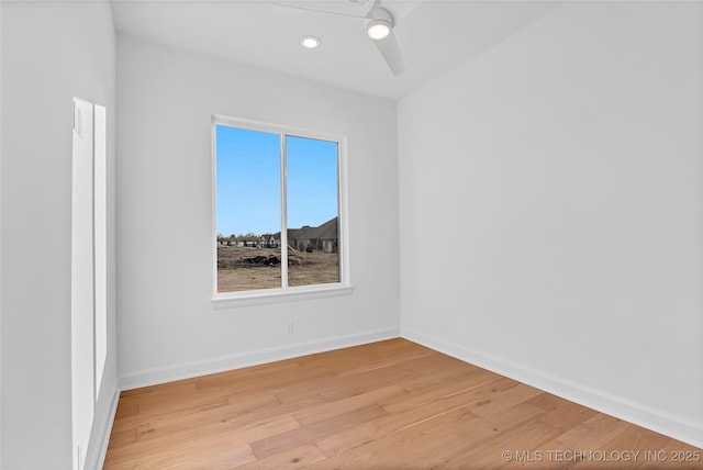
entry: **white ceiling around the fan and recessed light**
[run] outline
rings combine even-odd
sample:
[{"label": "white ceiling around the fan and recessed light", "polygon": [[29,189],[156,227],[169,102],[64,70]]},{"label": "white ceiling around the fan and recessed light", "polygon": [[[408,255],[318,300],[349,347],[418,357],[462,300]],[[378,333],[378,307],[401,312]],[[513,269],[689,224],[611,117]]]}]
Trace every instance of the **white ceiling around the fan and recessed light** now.
[{"label": "white ceiling around the fan and recessed light", "polygon": [[[277,2],[286,0],[277,0]],[[323,0],[348,2],[349,0]],[[263,0],[112,0],[118,33],[399,99],[558,8],[560,1],[383,0],[406,65],[394,77],[364,20]],[[322,46],[304,49],[315,35]]]}]

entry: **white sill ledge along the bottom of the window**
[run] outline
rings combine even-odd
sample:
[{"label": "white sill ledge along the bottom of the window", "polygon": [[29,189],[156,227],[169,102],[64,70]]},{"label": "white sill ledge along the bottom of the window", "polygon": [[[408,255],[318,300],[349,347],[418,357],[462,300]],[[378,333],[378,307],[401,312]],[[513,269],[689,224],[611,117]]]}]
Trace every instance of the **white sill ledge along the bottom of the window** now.
[{"label": "white sill ledge along the bottom of the window", "polygon": [[280,302],[294,302],[331,296],[348,295],[354,290],[352,286],[320,284],[289,289],[268,289],[249,292],[233,292],[215,294],[212,298],[214,310],[228,310],[242,306],[265,305]]}]

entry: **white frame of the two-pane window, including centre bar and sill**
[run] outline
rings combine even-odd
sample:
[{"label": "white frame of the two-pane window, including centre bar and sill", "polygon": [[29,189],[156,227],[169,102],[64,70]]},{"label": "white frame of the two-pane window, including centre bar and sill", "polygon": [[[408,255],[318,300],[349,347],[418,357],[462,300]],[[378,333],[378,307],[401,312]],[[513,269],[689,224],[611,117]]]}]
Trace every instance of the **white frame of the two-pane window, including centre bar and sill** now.
[{"label": "white frame of the two-pane window, including centre bar and sill", "polygon": [[[216,127],[219,125],[238,127],[247,131],[278,134],[280,137],[281,158],[281,287],[277,289],[260,289],[237,292],[217,292],[217,148]],[[339,282],[326,284],[310,284],[300,287],[288,286],[288,240],[287,208],[286,208],[286,136],[304,137],[317,141],[337,143],[337,223],[339,234]],[[288,302],[292,300],[311,300],[335,295],[349,294],[353,286],[349,281],[349,236],[347,219],[347,139],[344,135],[332,135],[315,131],[303,130],[281,124],[271,124],[242,118],[214,114],[211,123],[211,154],[212,154],[212,305],[214,309],[231,309],[237,306],[256,305],[261,303]]]}]

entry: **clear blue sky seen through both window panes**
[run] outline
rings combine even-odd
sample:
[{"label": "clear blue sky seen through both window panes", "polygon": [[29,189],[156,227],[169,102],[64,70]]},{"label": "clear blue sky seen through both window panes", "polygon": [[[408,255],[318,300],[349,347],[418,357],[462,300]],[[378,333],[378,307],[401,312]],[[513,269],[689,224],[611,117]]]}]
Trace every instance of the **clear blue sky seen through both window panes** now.
[{"label": "clear blue sky seen through both window panes", "polygon": [[[288,227],[337,215],[337,143],[287,136]],[[244,235],[281,226],[278,134],[216,126],[216,231]]]}]

